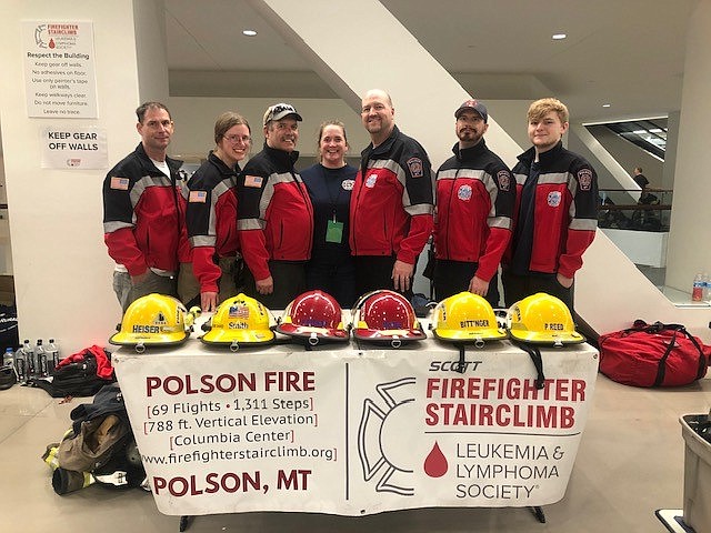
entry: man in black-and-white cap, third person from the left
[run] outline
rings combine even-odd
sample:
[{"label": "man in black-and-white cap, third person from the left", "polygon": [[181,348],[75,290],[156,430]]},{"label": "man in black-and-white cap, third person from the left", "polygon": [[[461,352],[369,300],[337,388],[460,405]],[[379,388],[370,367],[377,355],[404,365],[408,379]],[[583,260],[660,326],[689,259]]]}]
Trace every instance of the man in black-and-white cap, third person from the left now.
[{"label": "man in black-and-white cap, third person from the left", "polygon": [[249,269],[247,295],[284,309],[306,290],[313,208],[294,169],[301,115],[277,103],[264,113],[264,147],[244,165],[237,184],[237,229]]}]

